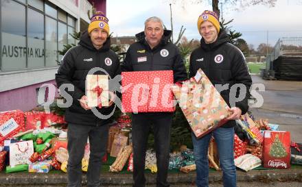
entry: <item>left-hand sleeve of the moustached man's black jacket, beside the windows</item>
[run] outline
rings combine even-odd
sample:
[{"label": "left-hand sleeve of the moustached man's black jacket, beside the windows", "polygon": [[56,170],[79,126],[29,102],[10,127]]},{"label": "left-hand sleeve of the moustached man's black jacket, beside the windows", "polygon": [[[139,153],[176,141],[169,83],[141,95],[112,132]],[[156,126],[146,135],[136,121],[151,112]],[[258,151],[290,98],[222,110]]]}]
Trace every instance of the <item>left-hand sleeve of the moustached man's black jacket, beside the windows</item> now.
[{"label": "left-hand sleeve of the moustached man's black jacket, beside the windows", "polygon": [[85,95],[85,93],[82,92],[80,88],[76,87],[72,82],[72,77],[75,72],[75,59],[73,57],[72,51],[72,49],[67,51],[65,56],[62,58],[62,64],[58,68],[58,73],[56,73],[56,84],[58,88],[60,88],[62,84],[72,85],[74,88],[73,91],[67,89],[65,89],[65,91],[69,95],[71,95],[73,100],[77,101],[78,99],[81,99],[81,97]]}]

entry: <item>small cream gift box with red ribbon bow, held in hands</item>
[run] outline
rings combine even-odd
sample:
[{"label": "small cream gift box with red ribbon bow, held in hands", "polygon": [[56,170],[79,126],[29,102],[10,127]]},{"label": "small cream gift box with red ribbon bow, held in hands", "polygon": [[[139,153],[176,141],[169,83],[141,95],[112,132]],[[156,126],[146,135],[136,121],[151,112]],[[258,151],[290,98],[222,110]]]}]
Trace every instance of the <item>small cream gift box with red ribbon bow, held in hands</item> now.
[{"label": "small cream gift box with red ribbon bow, held in hands", "polygon": [[87,75],[86,96],[89,107],[108,106],[108,75]]}]

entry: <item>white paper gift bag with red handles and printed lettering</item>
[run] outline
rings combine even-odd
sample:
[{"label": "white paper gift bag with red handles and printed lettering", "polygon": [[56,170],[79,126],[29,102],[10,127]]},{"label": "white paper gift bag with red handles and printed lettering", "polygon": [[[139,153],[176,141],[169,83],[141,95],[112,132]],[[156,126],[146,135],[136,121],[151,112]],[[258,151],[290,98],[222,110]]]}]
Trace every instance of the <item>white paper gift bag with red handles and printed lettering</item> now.
[{"label": "white paper gift bag with red handles and printed lettering", "polygon": [[10,144],[10,166],[30,164],[30,157],[33,153],[32,140]]}]

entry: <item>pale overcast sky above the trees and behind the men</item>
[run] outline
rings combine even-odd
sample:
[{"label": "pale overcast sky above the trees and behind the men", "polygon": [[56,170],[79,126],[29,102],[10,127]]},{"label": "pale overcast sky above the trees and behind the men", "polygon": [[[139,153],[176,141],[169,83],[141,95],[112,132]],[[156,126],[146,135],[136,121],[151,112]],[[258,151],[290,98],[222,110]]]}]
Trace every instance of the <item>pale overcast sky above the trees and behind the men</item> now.
[{"label": "pale overcast sky above the trees and behind the men", "polygon": [[[243,1],[243,0],[242,0]],[[159,16],[167,29],[170,29],[169,0],[107,0],[107,16],[113,36],[134,36],[143,31],[143,23],[150,16]],[[205,3],[172,3],[174,34],[178,35],[181,25],[186,28],[184,36],[200,40],[196,22],[203,10],[211,10]],[[275,7],[254,5],[244,10],[234,10],[231,5],[222,5],[222,16],[231,23],[233,29],[242,33],[248,44],[255,48],[259,43],[275,45],[280,37],[302,37],[302,0],[277,0]]]}]

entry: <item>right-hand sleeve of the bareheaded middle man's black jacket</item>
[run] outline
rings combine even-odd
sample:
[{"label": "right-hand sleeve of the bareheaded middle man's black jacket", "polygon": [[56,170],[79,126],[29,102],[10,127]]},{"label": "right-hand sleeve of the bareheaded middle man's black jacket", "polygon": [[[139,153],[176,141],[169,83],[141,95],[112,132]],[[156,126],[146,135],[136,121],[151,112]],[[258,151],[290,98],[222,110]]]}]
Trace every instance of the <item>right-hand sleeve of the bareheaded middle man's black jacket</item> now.
[{"label": "right-hand sleeve of the bareheaded middle man's black jacket", "polygon": [[174,83],[184,81],[187,79],[187,70],[185,69],[185,63],[181,57],[181,53],[176,47],[176,56],[173,65]]}]

